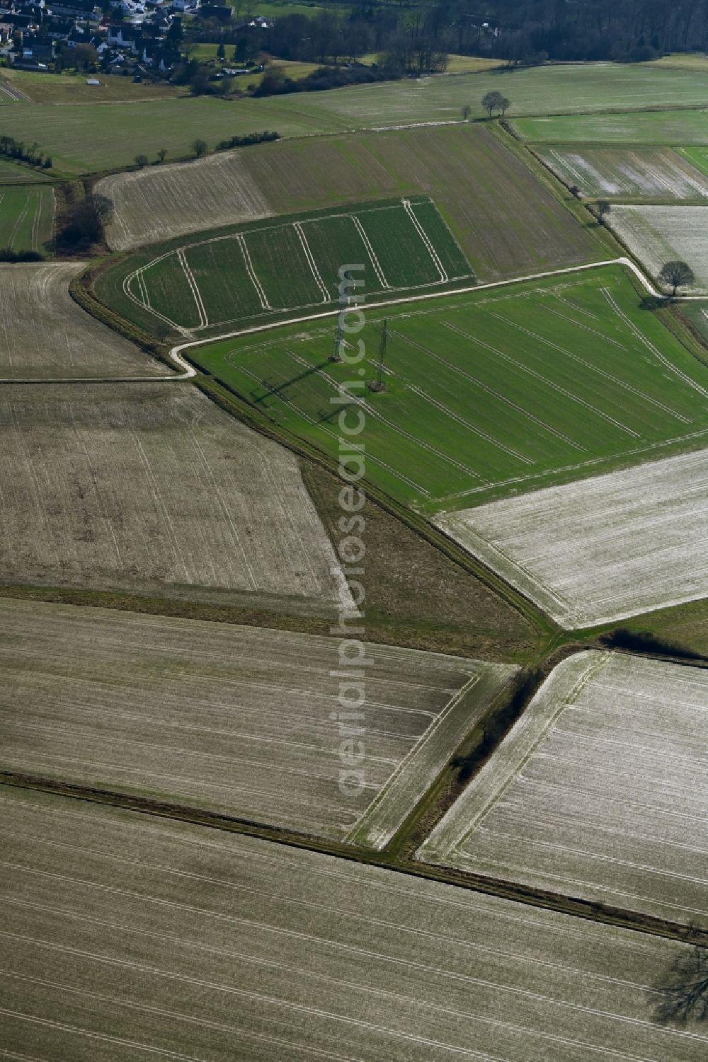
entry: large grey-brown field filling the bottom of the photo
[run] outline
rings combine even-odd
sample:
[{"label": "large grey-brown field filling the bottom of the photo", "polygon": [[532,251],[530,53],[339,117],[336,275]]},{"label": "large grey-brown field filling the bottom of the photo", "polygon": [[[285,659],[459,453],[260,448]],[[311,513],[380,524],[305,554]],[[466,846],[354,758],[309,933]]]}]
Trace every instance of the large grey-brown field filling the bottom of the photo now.
[{"label": "large grey-brown field filling the bottom of the photo", "polygon": [[237,835],[0,791],[2,1045],[47,1062],[704,1062],[684,945]]}]

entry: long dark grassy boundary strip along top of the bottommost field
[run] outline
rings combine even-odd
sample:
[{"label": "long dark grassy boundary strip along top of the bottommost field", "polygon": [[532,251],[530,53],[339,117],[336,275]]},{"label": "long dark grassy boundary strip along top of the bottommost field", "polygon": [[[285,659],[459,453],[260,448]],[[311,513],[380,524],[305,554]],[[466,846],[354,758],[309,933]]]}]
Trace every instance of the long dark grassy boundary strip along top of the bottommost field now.
[{"label": "long dark grassy boundary strip along top of the bottommost field", "polygon": [[672,922],[669,919],[642,914],[627,908],[612,907],[601,901],[586,901],[563,893],[545,889],[535,889],[503,878],[493,878],[485,874],[460,871],[452,867],[440,867],[424,863],[415,859],[397,859],[385,853],[357,849],[343,842],[327,841],[296,830],[267,826],[247,819],[207,811],[191,805],[171,804],[147,796],[131,795],[109,789],[94,789],[88,786],[75,785],[70,782],[58,782],[38,775],[21,774],[13,771],[0,771],[0,785],[9,785],[18,789],[52,793],[72,800],[91,804],[103,804],[120,807],[136,813],[156,818],[172,819],[193,825],[206,826],[229,833],[241,834],[260,840],[281,844],[285,847],[302,849],[318,852],[336,859],[378,867],[392,873],[434,880],[445,885],[457,886],[472,892],[494,895],[527,907],[537,907],[556,911],[568,917],[600,922],[621,928],[643,932],[653,937],[682,943],[708,943],[708,930],[695,929],[689,925]]}]

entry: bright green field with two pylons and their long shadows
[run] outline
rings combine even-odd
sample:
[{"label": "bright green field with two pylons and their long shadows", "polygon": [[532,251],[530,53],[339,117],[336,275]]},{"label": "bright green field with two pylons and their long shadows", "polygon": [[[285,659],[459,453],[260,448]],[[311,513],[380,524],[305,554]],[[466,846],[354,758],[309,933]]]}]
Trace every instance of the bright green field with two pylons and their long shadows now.
[{"label": "bright green field with two pylons and their long shadows", "polygon": [[[694,445],[706,369],[619,267],[386,310],[387,391],[364,389],[367,475],[426,513],[576,479]],[[370,308],[373,377],[383,311]],[[334,323],[191,352],[255,409],[337,453]],[[359,366],[359,370],[361,365]],[[357,372],[359,371],[357,370]]]}]

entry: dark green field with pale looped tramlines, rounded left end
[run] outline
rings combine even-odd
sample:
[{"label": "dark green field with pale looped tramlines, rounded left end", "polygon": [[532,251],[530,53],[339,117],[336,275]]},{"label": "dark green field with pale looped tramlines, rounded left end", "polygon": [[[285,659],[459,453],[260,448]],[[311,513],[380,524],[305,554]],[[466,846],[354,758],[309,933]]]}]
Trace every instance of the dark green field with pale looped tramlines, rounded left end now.
[{"label": "dark green field with pale looped tramlines, rounded left end", "polygon": [[172,240],[121,261],[98,291],[137,323],[147,318],[153,327],[163,321],[206,336],[336,305],[348,263],[364,266],[370,291],[391,296],[474,282],[436,207],[418,196]]}]

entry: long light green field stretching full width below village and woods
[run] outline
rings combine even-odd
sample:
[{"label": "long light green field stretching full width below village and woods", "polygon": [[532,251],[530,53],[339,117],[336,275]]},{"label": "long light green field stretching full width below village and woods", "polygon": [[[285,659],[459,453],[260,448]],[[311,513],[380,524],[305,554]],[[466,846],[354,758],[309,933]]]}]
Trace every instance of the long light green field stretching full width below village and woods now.
[{"label": "long light green field stretching full width below village and woods", "polygon": [[[213,148],[217,140],[260,129],[290,137],[458,121],[465,104],[472,107],[474,116],[482,116],[481,101],[490,89],[500,89],[511,100],[512,117],[643,106],[708,106],[708,73],[651,64],[600,63],[406,79],[305,96],[230,102],[208,97],[152,100],[140,102],[137,112],[122,103],[106,103],[100,108],[33,103],[4,109],[2,124],[3,132],[17,139],[36,140],[57,167],[83,172],[130,166],[139,152],[152,158],[159,148],[166,148],[170,158],[183,157],[189,154],[197,135]],[[673,142],[702,140],[696,132],[685,140],[673,137]]]}]

